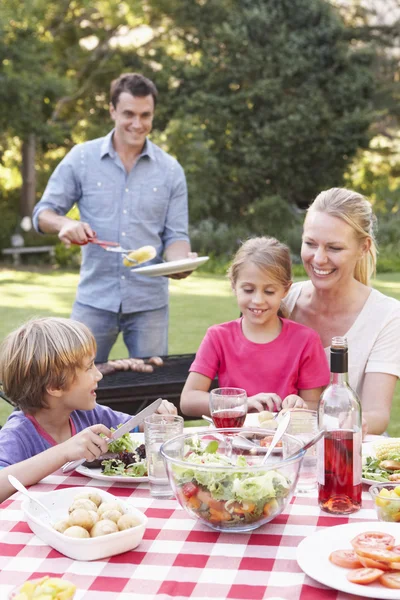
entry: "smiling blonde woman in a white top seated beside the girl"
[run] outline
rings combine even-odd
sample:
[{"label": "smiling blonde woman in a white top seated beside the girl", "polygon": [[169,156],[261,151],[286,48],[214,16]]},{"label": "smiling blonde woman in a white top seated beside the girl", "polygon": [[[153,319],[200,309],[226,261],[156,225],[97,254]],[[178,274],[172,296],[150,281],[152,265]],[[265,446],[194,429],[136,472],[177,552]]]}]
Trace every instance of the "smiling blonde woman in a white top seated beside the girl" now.
[{"label": "smiling blonde woman in a white top seated beside the girl", "polygon": [[349,379],[368,432],[381,434],[400,377],[400,302],[370,286],[375,217],[361,194],[332,188],[307,211],[301,258],[309,281],[285,298],[289,318],[315,329],[327,356],[334,336],[349,344]]}]

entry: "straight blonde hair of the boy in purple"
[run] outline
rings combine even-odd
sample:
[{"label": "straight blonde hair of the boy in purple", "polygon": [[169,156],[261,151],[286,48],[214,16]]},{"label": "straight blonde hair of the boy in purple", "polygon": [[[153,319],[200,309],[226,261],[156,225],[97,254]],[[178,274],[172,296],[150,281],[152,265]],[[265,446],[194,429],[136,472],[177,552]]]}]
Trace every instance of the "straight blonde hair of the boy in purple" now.
[{"label": "straight blonde hair of the boy in purple", "polygon": [[72,319],[32,319],[0,347],[0,381],[6,396],[26,413],[46,407],[49,388],[67,389],[84,360],[96,354],[96,341]]}]

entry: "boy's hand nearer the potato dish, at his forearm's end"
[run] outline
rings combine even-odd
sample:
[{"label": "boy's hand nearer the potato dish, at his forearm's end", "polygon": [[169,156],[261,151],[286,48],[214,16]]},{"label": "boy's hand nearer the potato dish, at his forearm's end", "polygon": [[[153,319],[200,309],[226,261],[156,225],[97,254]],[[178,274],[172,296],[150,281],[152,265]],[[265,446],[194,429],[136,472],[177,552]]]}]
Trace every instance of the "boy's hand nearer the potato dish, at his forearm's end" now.
[{"label": "boy's hand nearer the potato dish, at his forearm's end", "polygon": [[65,462],[81,458],[92,461],[101,454],[105,454],[108,450],[108,444],[99,435],[100,433],[104,433],[107,438],[110,438],[112,434],[105,425],[92,425],[61,444],[65,452]]}]

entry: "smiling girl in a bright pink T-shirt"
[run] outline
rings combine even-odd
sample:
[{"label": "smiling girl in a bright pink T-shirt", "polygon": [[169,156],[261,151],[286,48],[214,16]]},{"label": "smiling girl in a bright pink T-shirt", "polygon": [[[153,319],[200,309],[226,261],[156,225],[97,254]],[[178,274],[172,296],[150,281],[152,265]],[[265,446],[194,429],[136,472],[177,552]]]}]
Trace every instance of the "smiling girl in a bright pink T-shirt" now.
[{"label": "smiling girl in a bright pink T-shirt", "polygon": [[242,316],[208,329],[182,391],[182,412],[209,414],[216,375],[221,387],[246,390],[249,411],[316,408],[329,368],[318,334],[282,316],[292,283],[288,247],[274,238],[250,239],[228,275]]}]

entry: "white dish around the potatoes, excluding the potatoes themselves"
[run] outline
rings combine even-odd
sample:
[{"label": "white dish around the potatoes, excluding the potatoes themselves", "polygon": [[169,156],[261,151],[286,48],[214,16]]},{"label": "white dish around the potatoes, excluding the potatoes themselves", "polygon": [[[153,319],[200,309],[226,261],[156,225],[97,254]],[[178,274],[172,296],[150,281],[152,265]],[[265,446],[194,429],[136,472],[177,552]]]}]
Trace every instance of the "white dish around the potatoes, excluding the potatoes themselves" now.
[{"label": "white dish around the potatoes, excluding the potatoes themselves", "polygon": [[[139,524],[124,531],[95,538],[73,538],[59,533],[53,529],[52,524],[68,515],[68,508],[75,496],[81,492],[97,492],[101,495],[103,502],[118,501],[125,513],[135,517]],[[88,486],[65,488],[41,494],[40,501],[50,509],[51,517],[44,513],[35,502],[26,498],[22,502],[22,510],[29,527],[43,542],[74,560],[98,560],[133,550],[142,541],[146,529],[146,515],[99,488]]]}]

